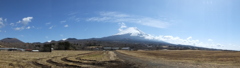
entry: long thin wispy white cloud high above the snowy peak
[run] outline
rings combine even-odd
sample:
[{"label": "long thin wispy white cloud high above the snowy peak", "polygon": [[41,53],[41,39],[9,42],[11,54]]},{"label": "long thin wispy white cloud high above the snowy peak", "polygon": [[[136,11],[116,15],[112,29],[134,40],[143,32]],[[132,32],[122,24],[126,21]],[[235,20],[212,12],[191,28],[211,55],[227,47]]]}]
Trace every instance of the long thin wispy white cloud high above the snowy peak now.
[{"label": "long thin wispy white cloud high above the snowy peak", "polygon": [[100,12],[100,16],[88,18],[87,21],[137,23],[156,28],[166,28],[170,25],[170,23],[161,21],[159,19],[127,15],[118,12]]}]

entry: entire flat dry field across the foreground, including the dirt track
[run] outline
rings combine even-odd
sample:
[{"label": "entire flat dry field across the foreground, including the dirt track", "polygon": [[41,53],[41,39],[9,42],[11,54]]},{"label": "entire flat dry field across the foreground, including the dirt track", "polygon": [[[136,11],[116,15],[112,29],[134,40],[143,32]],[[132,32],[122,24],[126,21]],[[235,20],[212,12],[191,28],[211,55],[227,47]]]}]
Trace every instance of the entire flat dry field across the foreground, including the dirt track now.
[{"label": "entire flat dry field across the foreground, including the dirt track", "polygon": [[0,51],[0,68],[239,68],[240,52]]}]

